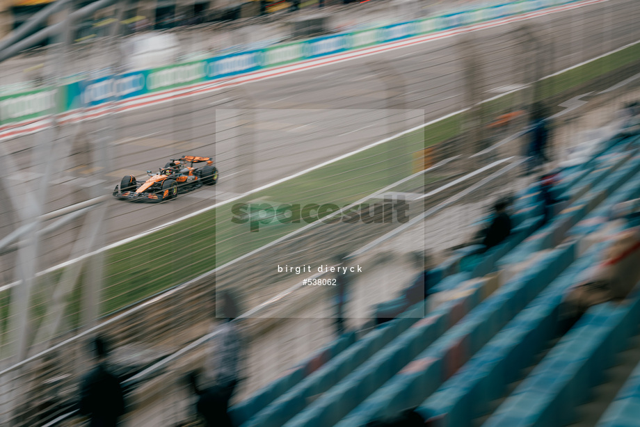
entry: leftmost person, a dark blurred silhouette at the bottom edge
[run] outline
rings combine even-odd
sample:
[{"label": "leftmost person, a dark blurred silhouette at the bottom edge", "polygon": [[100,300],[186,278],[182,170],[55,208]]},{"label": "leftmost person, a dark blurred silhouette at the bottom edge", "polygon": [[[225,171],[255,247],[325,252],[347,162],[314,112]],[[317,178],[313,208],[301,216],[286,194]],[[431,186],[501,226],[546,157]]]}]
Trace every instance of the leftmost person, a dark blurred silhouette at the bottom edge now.
[{"label": "leftmost person, a dark blurred silhouette at the bottom edge", "polygon": [[125,398],[120,380],[107,363],[109,346],[102,337],[93,340],[96,366],[82,379],[79,412],[90,419],[91,427],[115,427],[125,414]]}]

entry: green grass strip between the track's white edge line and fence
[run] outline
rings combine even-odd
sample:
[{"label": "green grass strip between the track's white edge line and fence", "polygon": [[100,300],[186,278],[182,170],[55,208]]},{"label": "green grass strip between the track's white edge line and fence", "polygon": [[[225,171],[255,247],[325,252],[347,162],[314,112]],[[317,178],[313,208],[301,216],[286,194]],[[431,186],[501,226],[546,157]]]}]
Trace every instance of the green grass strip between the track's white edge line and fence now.
[{"label": "green grass strip between the track's white edge line and fence", "polygon": [[[640,59],[640,45],[633,45],[598,60],[545,79],[547,97],[592,81]],[[485,112],[499,113],[513,105],[518,94],[510,94],[486,103]],[[177,284],[198,277],[251,250],[274,241],[306,225],[269,224],[259,232],[250,232],[247,224],[234,224],[234,204],[267,201],[325,204],[339,207],[351,204],[413,173],[415,152],[457,136],[461,115],[419,129],[400,138],[371,147],[287,182],[253,193],[232,204],[225,204],[192,218],[143,236],[104,254],[104,288],[101,314],[109,314]],[[221,179],[225,179],[221,171]],[[40,277],[33,293],[32,316],[45,314],[51,287],[61,271]],[[79,307],[84,277],[70,295],[65,329],[79,325]],[[0,293],[0,328],[8,330],[9,291]],[[2,334],[6,343],[6,333]]]}]

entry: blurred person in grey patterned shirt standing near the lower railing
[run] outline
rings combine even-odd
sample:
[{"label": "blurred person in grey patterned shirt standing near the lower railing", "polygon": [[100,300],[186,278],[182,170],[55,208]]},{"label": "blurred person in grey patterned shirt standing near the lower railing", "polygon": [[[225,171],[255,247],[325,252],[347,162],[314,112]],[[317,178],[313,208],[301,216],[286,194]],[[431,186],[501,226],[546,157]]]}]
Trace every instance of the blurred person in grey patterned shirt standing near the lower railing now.
[{"label": "blurred person in grey patterned shirt standing near the lower railing", "polygon": [[221,299],[225,320],[218,325],[217,333],[209,346],[205,365],[205,387],[200,393],[200,400],[202,396],[205,402],[218,399],[222,402],[226,414],[229,401],[240,380],[241,335],[234,322],[238,316],[234,299],[229,292],[223,293]]}]

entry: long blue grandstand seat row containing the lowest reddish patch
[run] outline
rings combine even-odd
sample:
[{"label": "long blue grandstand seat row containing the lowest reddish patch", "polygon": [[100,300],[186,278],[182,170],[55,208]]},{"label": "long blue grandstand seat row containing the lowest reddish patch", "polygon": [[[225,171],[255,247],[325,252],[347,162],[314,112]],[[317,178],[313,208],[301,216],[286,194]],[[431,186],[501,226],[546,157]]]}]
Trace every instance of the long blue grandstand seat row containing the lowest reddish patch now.
[{"label": "long blue grandstand seat row containing the lowest reddish patch", "polygon": [[[504,284],[483,300],[454,328],[448,330],[410,364],[351,411],[338,426],[366,424],[411,405],[419,405],[462,366],[490,337],[512,319],[555,275],[574,259],[575,245],[563,245],[547,254],[529,271]],[[423,347],[424,348],[424,347]],[[335,414],[334,414],[335,416]],[[291,424],[294,425],[294,424]],[[300,424],[314,426],[316,424]]]}]

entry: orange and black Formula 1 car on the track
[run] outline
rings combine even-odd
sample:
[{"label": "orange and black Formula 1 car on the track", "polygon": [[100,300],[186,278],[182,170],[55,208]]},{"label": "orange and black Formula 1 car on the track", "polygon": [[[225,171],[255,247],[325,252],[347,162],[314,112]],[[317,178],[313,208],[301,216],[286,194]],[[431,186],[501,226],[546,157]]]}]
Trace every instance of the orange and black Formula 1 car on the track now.
[{"label": "orange and black Formula 1 car on the track", "polygon": [[147,175],[149,178],[145,182],[138,182],[133,175],[127,175],[120,181],[120,186],[115,186],[113,195],[130,202],[162,202],[176,198],[178,193],[218,182],[218,169],[211,157],[170,159],[158,173],[152,174],[147,170]]}]

